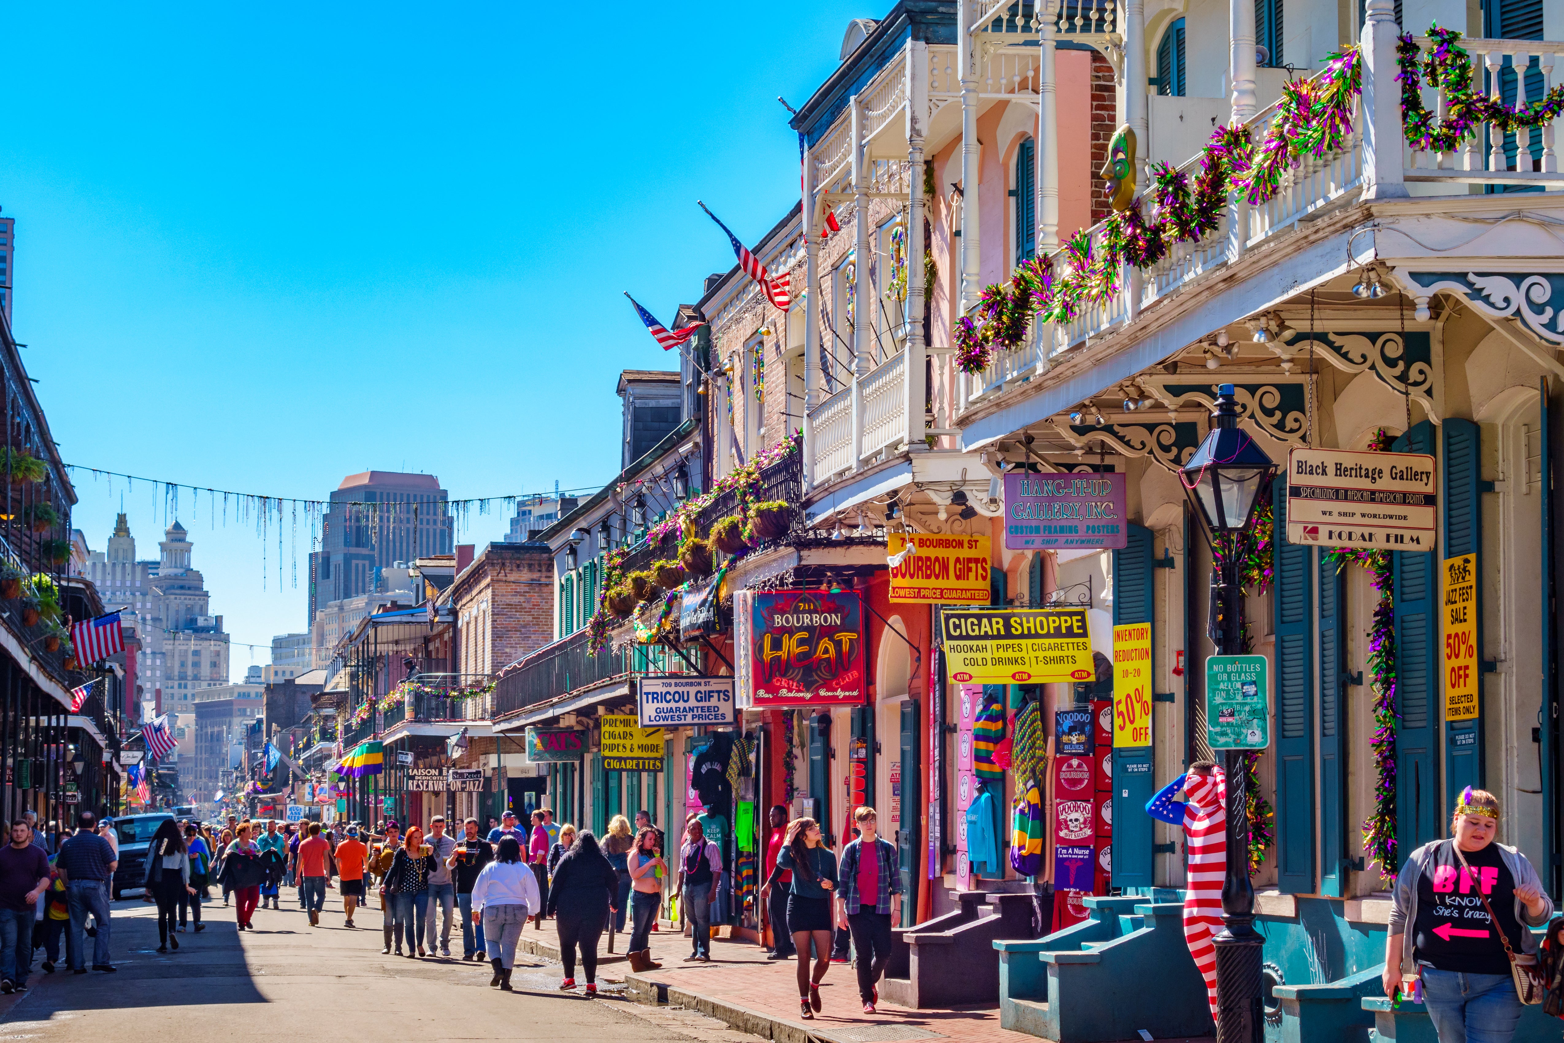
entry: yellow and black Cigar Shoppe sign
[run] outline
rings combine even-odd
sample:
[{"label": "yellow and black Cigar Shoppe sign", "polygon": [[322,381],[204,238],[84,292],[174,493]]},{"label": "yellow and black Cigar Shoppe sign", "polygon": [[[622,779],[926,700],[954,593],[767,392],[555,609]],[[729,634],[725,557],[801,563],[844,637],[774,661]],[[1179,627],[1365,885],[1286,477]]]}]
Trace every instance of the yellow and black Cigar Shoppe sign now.
[{"label": "yellow and black Cigar Shoppe sign", "polygon": [[949,680],[981,685],[1092,680],[1085,608],[974,608],[940,615]]}]

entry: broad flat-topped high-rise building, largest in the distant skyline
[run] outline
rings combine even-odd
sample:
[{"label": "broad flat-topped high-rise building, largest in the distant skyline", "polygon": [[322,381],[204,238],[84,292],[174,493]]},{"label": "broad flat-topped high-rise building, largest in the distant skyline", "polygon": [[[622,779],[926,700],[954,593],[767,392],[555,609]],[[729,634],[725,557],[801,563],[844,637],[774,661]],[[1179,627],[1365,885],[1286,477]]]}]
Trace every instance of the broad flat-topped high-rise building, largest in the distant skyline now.
[{"label": "broad flat-topped high-rise building, largest in the distant skyline", "polygon": [[432,474],[364,471],[332,493],[321,549],[310,555],[308,622],[333,600],[380,590],[380,571],[452,554],[446,491]]}]

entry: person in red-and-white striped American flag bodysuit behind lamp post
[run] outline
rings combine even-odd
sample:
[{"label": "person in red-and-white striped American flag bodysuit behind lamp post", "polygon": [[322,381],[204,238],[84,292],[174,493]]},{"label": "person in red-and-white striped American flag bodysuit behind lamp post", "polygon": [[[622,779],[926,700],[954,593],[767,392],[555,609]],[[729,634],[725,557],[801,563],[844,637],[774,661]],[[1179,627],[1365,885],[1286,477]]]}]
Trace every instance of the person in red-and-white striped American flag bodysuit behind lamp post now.
[{"label": "person in red-and-white striped American flag bodysuit behind lamp post", "polygon": [[[1179,790],[1189,801],[1175,801]],[[1146,804],[1146,815],[1184,827],[1187,876],[1184,941],[1206,979],[1211,1020],[1217,1020],[1217,949],[1221,930],[1221,880],[1228,873],[1228,782],[1214,762],[1196,760]]]}]

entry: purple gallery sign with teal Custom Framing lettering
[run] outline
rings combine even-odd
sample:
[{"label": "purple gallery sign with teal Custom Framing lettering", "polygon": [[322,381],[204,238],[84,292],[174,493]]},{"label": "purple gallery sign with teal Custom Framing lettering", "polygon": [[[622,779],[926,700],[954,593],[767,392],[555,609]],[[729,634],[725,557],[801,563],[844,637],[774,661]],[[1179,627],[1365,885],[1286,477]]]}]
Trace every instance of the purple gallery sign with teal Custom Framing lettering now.
[{"label": "purple gallery sign with teal Custom Framing lettering", "polygon": [[1006,550],[1128,543],[1123,474],[1004,475]]}]

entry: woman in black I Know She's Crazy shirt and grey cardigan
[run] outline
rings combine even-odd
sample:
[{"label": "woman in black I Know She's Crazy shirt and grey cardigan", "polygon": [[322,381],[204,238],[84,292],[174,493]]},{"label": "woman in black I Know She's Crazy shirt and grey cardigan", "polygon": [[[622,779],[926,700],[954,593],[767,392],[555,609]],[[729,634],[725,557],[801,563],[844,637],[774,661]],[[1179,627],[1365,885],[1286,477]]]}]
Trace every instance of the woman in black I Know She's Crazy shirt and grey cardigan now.
[{"label": "woman in black I Know She's Crazy shirt and grey cardigan", "polygon": [[[1450,840],[1431,840],[1401,863],[1384,943],[1384,995],[1422,979],[1440,1043],[1508,1043],[1520,1021],[1511,965],[1536,959],[1553,899],[1520,851],[1495,843],[1498,797],[1467,787]],[[1472,907],[1472,896],[1481,902]],[[1451,930],[1453,923],[1462,929]],[[1481,929],[1481,930],[1480,930]]]}]

